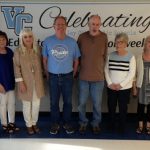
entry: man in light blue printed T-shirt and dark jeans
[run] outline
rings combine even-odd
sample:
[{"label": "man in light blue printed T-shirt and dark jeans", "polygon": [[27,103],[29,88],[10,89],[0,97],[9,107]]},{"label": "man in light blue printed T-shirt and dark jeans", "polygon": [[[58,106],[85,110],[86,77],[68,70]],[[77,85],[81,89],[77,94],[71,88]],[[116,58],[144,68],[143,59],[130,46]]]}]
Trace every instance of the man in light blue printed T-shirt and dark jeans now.
[{"label": "man in light blue printed T-shirt and dark jeans", "polygon": [[74,132],[70,124],[72,113],[73,77],[77,73],[80,51],[76,41],[66,35],[67,22],[63,16],[54,20],[55,34],[46,38],[43,45],[44,69],[49,76],[51,134],[60,129],[59,99],[63,97],[63,128],[66,133]]}]

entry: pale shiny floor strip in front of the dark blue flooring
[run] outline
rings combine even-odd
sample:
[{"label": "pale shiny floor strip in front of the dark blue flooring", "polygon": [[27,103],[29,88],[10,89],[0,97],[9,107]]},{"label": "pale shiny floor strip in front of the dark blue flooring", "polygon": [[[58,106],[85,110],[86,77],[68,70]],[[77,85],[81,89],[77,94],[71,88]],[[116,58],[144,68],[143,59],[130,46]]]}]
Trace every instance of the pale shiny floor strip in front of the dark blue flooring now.
[{"label": "pale shiny floor strip in front of the dark blue flooring", "polygon": [[0,139],[0,150],[149,150],[150,141],[100,139]]}]

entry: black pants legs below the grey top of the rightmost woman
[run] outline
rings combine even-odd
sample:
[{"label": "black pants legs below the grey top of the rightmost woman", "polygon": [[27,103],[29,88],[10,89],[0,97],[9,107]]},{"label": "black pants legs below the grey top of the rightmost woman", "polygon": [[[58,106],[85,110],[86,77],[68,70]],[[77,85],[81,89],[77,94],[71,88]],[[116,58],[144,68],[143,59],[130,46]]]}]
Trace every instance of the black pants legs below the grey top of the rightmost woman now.
[{"label": "black pants legs below the grey top of the rightmost woman", "polygon": [[145,107],[147,107],[146,121],[150,122],[150,104],[145,105],[140,103],[138,103],[138,108],[137,108],[138,121],[145,120]]}]

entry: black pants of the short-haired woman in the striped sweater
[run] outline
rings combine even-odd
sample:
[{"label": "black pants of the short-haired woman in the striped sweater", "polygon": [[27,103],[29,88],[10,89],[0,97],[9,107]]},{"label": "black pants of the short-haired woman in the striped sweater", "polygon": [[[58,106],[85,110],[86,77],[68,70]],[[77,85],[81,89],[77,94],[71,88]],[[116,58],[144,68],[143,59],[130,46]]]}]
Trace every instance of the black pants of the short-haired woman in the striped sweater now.
[{"label": "black pants of the short-haired woman in the striped sweater", "polygon": [[119,120],[120,128],[125,129],[126,125],[126,115],[127,115],[127,105],[130,99],[130,89],[115,91],[108,89],[108,111],[110,114],[110,123],[112,126],[115,124],[115,114],[117,103],[119,106]]}]

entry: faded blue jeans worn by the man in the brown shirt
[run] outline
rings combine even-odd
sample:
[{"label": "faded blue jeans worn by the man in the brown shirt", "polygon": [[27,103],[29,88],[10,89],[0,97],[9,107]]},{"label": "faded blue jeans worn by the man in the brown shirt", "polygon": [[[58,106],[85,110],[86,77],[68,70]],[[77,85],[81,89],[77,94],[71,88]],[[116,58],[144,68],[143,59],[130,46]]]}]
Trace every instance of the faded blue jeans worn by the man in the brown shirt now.
[{"label": "faded blue jeans worn by the man in the brown shirt", "polygon": [[86,103],[88,100],[89,94],[92,98],[93,103],[93,120],[91,125],[98,126],[101,122],[101,102],[102,94],[104,89],[104,81],[84,81],[79,80],[79,124],[87,125],[88,119],[86,117]]}]

